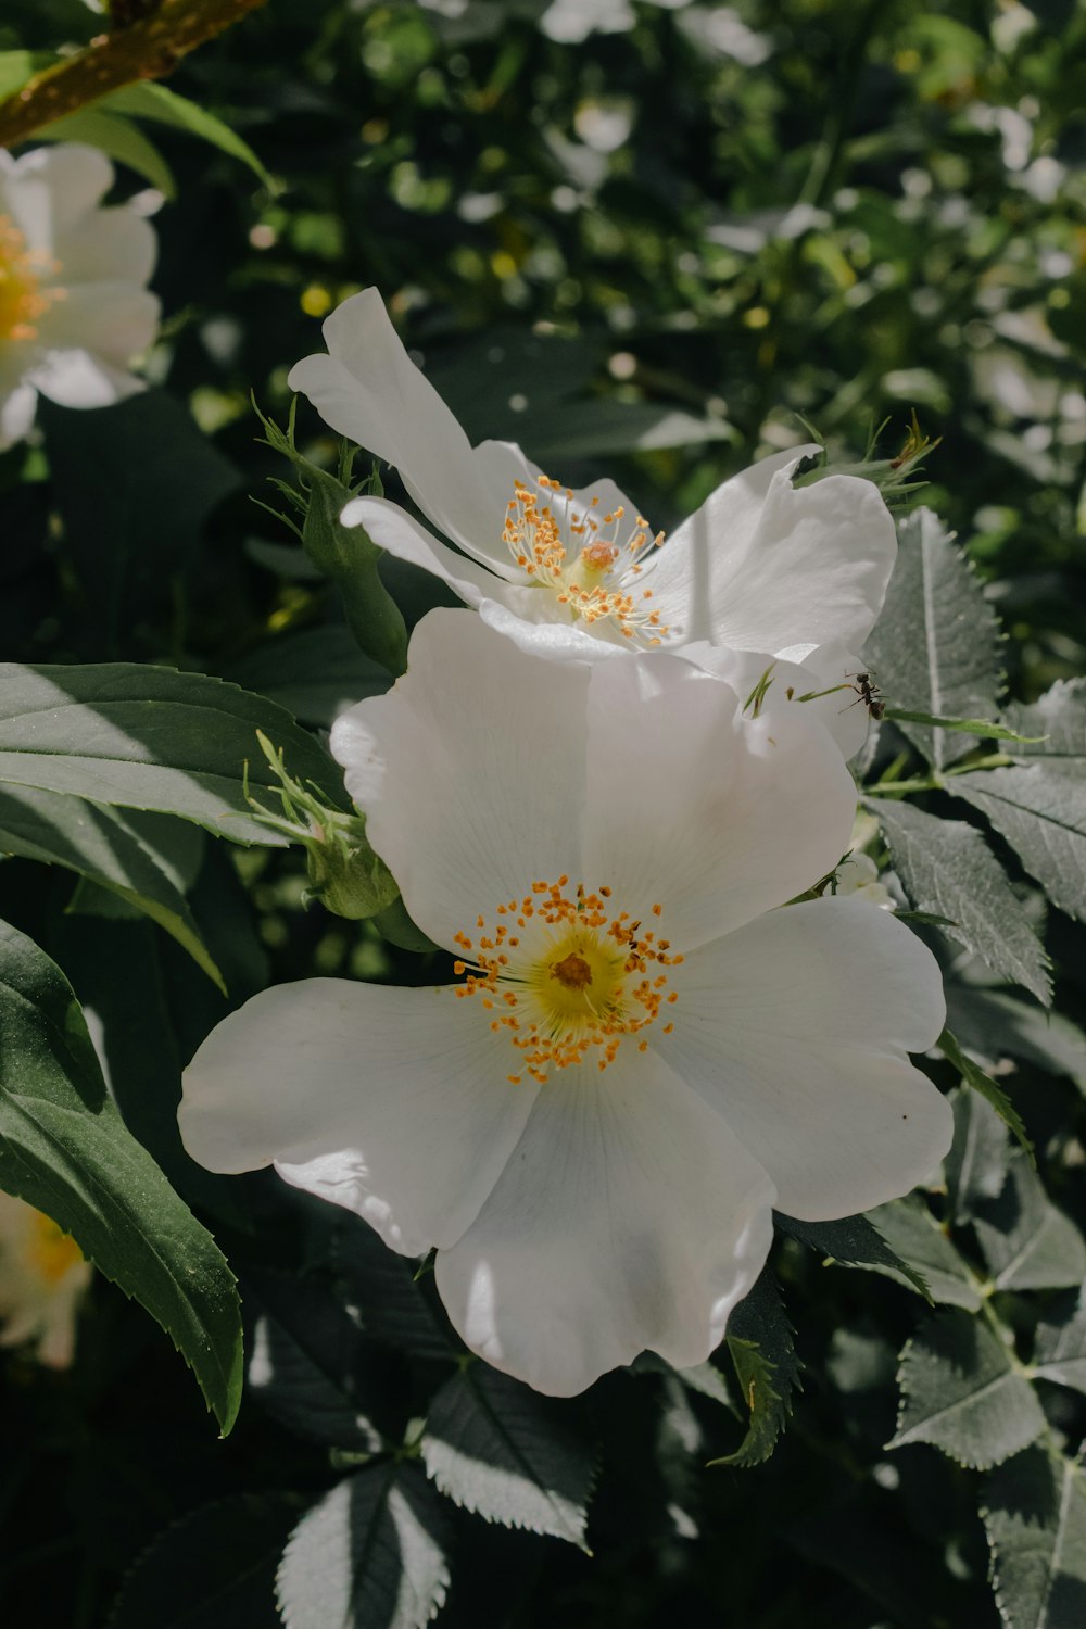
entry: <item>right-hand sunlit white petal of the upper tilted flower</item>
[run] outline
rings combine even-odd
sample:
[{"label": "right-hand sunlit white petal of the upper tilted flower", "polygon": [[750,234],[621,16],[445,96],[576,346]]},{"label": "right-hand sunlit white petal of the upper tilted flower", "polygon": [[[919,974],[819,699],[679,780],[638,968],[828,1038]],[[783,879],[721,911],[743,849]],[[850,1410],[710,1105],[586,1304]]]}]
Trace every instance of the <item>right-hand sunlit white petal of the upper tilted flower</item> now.
[{"label": "right-hand sunlit white petal of the upper tilted flower", "polygon": [[726,481],[656,555],[653,591],[682,643],[863,645],[894,567],[894,521],[878,487],[855,476],[796,490],[806,451]]}]

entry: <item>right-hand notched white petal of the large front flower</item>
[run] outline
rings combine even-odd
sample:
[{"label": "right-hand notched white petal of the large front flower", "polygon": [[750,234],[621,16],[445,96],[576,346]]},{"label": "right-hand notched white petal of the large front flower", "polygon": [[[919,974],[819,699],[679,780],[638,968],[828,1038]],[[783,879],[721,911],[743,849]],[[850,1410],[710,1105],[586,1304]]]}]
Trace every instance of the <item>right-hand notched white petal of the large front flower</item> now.
[{"label": "right-hand notched white petal of the large front flower", "polygon": [[915,933],[853,899],[788,906],[672,969],[656,1041],[770,1173],[780,1209],[821,1220],[907,1192],[946,1153],[946,1100],[909,1052],[944,1021]]}]

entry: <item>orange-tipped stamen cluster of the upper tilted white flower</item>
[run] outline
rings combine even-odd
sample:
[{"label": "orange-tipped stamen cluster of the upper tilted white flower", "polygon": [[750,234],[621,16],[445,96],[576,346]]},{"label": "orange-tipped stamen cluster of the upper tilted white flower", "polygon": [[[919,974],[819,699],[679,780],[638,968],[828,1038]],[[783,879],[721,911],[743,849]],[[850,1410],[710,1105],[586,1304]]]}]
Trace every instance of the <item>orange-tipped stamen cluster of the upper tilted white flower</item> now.
[{"label": "orange-tipped stamen cluster of the upper tilted white flower", "polygon": [[659,645],[671,632],[653,604],[643,573],[664,541],[638,515],[627,520],[622,505],[602,513],[599,498],[581,508],[568,487],[549,476],[536,481],[539,492],[515,482],[501,539],[526,575],[554,590],[558,604],[575,621],[611,621],[624,639]]}]

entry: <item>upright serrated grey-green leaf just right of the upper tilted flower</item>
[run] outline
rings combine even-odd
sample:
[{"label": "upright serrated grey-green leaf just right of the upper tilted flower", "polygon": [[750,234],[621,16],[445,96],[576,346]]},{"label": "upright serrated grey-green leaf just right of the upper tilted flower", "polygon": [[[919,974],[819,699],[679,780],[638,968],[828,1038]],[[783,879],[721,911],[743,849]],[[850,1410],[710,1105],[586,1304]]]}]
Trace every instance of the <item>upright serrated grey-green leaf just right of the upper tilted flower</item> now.
[{"label": "upright serrated grey-green leaf just right of the upper tilted flower", "polygon": [[[879,689],[902,712],[928,718],[990,718],[1000,694],[996,621],[967,557],[938,515],[899,521],[899,551],[882,616],[865,650]],[[962,735],[899,720],[935,769],[975,746]]]}]

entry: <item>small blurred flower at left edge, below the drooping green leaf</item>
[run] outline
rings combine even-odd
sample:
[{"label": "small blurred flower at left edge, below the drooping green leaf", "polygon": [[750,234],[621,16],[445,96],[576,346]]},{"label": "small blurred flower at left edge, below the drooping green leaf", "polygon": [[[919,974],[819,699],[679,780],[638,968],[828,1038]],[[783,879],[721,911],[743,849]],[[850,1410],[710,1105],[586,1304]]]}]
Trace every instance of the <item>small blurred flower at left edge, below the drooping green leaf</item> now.
[{"label": "small blurred flower at left edge, below the drooping green leaf", "polygon": [[29,1344],[49,1368],[67,1368],[91,1271],[55,1222],[0,1194],[0,1346]]}]

